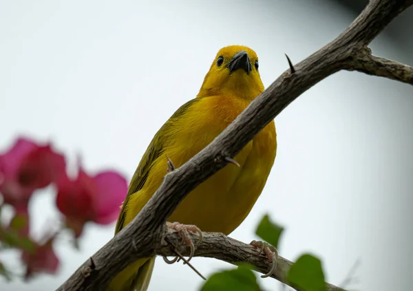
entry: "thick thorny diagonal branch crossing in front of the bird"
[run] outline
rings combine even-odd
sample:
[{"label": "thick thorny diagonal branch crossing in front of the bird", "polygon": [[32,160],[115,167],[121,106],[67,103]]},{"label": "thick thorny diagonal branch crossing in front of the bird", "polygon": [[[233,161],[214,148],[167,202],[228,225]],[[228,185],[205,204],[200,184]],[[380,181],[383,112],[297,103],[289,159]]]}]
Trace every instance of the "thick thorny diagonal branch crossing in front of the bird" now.
[{"label": "thick thorny diagonal branch crossing in front of the bird", "polygon": [[[83,263],[58,290],[105,290],[109,281],[130,263],[156,255],[165,235],[167,217],[193,188],[222,169],[227,163],[225,157],[235,156],[304,91],[341,69],[361,70],[361,65],[354,62],[359,52],[412,3],[413,0],[370,1],[335,40],[295,65],[294,70],[284,72],[218,138],[179,169],[165,175],[160,188],[135,219],[100,248],[92,260]],[[219,259],[220,255],[216,255]],[[91,261],[94,268],[91,268]],[[85,268],[91,270],[87,276]],[[277,279],[285,275],[285,272],[279,274]]]}]

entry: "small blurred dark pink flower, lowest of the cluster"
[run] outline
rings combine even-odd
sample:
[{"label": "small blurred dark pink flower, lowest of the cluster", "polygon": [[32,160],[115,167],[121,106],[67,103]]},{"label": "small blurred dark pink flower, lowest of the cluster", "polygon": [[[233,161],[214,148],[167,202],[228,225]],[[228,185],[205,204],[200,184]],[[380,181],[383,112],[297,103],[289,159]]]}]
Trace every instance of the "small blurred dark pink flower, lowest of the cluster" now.
[{"label": "small blurred dark pink flower, lowest of the cluster", "polygon": [[47,239],[44,244],[35,244],[33,250],[23,250],[21,259],[26,265],[25,279],[35,273],[54,274],[59,268],[59,258],[53,248],[54,237]]}]

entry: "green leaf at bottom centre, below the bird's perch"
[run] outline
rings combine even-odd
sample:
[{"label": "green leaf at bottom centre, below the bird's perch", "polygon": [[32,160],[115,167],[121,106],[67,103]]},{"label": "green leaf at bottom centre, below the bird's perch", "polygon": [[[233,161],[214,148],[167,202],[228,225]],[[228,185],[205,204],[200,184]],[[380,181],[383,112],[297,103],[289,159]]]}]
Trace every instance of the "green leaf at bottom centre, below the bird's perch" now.
[{"label": "green leaf at bottom centre, below the bird's perch", "polygon": [[260,285],[248,266],[225,270],[213,274],[202,286],[201,291],[260,291]]}]

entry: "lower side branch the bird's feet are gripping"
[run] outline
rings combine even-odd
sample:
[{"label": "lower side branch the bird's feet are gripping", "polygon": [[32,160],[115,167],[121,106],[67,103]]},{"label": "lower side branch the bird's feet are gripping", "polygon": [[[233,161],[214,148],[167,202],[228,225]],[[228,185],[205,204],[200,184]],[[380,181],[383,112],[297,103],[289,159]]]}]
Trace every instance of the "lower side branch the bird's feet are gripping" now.
[{"label": "lower side branch the bird's feet are gripping", "polygon": [[[189,233],[189,235],[193,241],[198,241],[198,235],[194,233]],[[169,229],[165,239],[171,244],[160,245],[159,249],[156,250],[158,255],[175,257],[175,250],[178,250],[181,255],[189,255],[189,248],[181,244],[182,237],[176,231]],[[260,250],[250,244],[244,244],[242,241],[231,239],[231,237],[227,237],[222,233],[202,233],[202,243],[196,245],[193,256],[220,259],[236,266],[240,265],[240,263],[250,263],[257,272],[263,274],[266,274],[271,269],[271,263],[268,262],[264,253],[260,254]],[[277,269],[271,277],[286,285],[290,285],[286,278],[291,265],[291,261],[279,256],[277,259]],[[329,283],[326,283],[326,287],[326,291],[343,291],[341,288]]]}]

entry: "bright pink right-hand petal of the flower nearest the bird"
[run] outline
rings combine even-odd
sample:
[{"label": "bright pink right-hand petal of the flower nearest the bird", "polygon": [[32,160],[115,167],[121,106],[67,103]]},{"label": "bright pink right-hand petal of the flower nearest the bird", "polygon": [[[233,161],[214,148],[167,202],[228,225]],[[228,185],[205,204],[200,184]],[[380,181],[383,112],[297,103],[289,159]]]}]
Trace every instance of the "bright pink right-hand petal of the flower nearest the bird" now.
[{"label": "bright pink right-hand petal of the flower nearest the bird", "polygon": [[127,194],[127,182],[115,171],[99,173],[94,177],[97,196],[94,199],[97,224],[110,224],[118,218],[120,205]]}]

